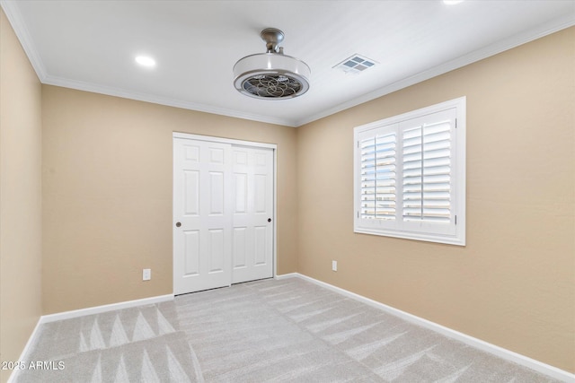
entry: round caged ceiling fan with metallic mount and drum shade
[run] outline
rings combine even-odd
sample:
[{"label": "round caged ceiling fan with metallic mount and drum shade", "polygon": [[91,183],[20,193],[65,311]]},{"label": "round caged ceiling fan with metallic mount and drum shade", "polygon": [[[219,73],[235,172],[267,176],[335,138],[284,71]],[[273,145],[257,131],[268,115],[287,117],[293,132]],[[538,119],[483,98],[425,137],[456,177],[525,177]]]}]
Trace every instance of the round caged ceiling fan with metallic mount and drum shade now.
[{"label": "round caged ceiling fan with metallic mount and drum shade", "polygon": [[266,41],[267,51],[235,63],[235,89],[261,100],[286,100],[304,94],[309,89],[311,70],[296,57],[284,55],[279,47],[284,32],[267,28],[261,30],[260,36]]}]

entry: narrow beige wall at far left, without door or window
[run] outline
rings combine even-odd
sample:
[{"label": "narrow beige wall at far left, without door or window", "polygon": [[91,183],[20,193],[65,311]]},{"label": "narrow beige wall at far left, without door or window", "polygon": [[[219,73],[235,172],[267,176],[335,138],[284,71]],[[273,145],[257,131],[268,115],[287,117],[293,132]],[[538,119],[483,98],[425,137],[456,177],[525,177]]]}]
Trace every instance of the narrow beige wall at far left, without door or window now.
[{"label": "narrow beige wall at far left, without door or window", "polygon": [[40,111],[40,81],[0,10],[0,361],[18,361],[41,315]]}]

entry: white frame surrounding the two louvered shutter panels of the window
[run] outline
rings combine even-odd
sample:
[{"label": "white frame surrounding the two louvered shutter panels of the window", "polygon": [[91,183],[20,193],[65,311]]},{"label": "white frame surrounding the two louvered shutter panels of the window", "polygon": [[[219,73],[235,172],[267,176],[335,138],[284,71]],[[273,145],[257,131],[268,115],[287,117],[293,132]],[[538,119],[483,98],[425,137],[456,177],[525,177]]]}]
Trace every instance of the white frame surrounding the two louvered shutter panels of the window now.
[{"label": "white frame surrounding the two louvered shutter panels of the window", "polygon": [[[465,246],[465,130],[466,98],[448,100],[423,109],[413,110],[392,118],[354,128],[354,232],[403,239],[416,239],[429,242]],[[395,213],[390,220],[361,217],[361,155],[360,143],[376,135],[395,133],[396,152],[402,147],[403,131],[412,121],[425,121],[437,116],[453,116],[449,119],[451,128],[450,147],[450,200],[449,222],[408,222],[403,219],[403,170],[396,161],[395,171]],[[396,159],[403,159],[403,152]]]}]

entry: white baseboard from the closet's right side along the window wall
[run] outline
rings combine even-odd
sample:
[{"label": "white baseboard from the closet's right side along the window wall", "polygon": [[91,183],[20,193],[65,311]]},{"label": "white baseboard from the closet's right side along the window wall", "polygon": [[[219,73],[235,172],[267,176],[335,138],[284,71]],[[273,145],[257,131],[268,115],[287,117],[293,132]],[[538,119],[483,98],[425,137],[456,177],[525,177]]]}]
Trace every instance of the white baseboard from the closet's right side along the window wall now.
[{"label": "white baseboard from the closet's right side along the window wall", "polygon": [[347,290],[341,289],[340,287],[333,286],[330,283],[324,283],[322,281],[318,281],[317,279],[299,273],[283,274],[276,276],[276,279],[285,279],[285,278],[304,279],[305,281],[309,281],[311,283],[323,286],[329,290],[332,290],[333,292],[338,292],[341,295],[345,295],[346,297],[349,297],[351,299],[359,300],[376,309],[382,309],[387,313],[390,313],[399,318],[403,318],[415,325],[429,328],[430,330],[433,330],[441,335],[446,335],[449,338],[456,339],[457,341],[460,341],[464,344],[468,344],[486,353],[496,355],[501,359],[505,359],[506,361],[512,361],[528,369],[541,372],[542,374],[545,374],[553,379],[559,379],[564,382],[575,382],[575,374],[571,374],[571,372],[558,369],[542,361],[535,361],[535,359],[529,358],[520,353],[515,353],[505,348],[502,348],[498,345],[490,344],[488,342],[482,341],[481,339],[475,338],[471,335],[460,333],[459,331],[453,330],[449,327],[438,325],[435,322],[431,322],[430,320],[417,317],[408,312],[402,311],[401,309],[394,309],[393,307],[387,306],[384,303],[378,302],[376,300],[370,300],[369,298],[356,294],[355,292],[349,292]]}]

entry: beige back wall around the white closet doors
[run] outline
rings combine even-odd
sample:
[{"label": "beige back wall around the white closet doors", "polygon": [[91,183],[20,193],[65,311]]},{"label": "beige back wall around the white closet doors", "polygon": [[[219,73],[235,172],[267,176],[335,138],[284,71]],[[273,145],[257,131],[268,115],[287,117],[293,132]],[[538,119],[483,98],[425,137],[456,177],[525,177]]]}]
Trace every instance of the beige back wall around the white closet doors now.
[{"label": "beige back wall around the white closet doors", "polygon": [[42,106],[44,314],[173,292],[174,131],[278,144],[278,272],[296,271],[293,127],[49,85]]}]

